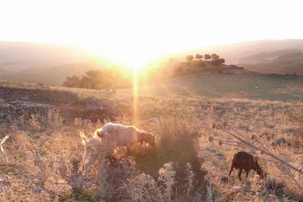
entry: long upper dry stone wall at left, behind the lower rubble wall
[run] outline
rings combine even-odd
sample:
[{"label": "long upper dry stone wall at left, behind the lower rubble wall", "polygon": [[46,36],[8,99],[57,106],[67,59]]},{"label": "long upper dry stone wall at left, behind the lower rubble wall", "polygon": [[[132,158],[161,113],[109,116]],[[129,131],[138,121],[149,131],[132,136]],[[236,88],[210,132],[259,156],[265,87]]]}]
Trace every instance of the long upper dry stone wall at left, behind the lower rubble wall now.
[{"label": "long upper dry stone wall at left, behind the lower rubble wall", "polygon": [[6,101],[41,99],[71,103],[77,100],[77,94],[62,90],[0,86],[0,98]]}]

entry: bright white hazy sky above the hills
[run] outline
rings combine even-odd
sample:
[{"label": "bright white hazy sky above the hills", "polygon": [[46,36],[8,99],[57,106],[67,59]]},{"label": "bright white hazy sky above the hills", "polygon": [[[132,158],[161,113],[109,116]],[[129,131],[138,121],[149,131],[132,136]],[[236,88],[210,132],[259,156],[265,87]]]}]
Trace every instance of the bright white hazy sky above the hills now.
[{"label": "bright white hazy sky above the hills", "polygon": [[131,63],[132,55],[303,38],[302,2],[0,0],[0,40],[84,45]]}]

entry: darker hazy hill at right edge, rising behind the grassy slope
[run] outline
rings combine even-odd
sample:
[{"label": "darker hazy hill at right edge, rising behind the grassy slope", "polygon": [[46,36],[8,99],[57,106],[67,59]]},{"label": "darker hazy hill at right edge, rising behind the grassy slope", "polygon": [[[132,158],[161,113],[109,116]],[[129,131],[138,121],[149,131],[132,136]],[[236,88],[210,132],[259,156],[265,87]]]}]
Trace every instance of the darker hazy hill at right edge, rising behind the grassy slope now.
[{"label": "darker hazy hill at right edge, rising behind the grassy slope", "polygon": [[303,75],[303,51],[285,49],[241,59],[241,66],[255,71]]}]

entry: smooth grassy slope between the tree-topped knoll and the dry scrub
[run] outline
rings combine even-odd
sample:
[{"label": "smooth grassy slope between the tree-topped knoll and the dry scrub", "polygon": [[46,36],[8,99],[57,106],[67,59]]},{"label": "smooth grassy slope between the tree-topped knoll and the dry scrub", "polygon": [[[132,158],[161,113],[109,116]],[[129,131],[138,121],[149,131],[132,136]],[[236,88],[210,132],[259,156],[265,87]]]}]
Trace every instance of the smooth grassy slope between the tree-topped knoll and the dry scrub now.
[{"label": "smooth grassy slope between the tree-topped knoll and the dry scrub", "polygon": [[[52,86],[67,89],[79,96],[99,99],[126,100],[133,89],[92,90]],[[199,73],[151,83],[137,88],[139,95],[155,97],[248,98],[266,100],[303,99],[303,77],[245,71],[239,74]]]}]

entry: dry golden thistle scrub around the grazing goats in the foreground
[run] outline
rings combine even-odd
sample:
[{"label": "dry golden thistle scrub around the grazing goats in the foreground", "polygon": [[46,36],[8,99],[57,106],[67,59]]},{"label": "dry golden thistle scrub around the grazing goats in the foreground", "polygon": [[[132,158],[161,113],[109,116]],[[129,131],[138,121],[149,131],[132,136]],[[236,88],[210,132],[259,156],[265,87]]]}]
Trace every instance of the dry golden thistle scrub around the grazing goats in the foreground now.
[{"label": "dry golden thistle scrub around the grazing goats in the foreground", "polygon": [[[125,96],[126,97],[126,96]],[[114,101],[113,101],[114,102]],[[265,189],[250,172],[245,186],[233,171],[233,154],[239,150],[270,159],[261,153],[209,141],[233,140],[212,124],[228,122],[243,135],[256,134],[277,156],[302,169],[302,104],[229,98],[156,98],[140,96],[132,119],[132,99],[118,104],[123,116],[116,122],[134,124],[157,136],[156,148],[134,145],[130,155],[117,151],[115,165],[101,157],[85,180],[78,174],[83,155],[79,131],[91,137],[109,120],[64,120],[50,112],[29,122],[20,119],[2,125],[2,136],[10,134],[3,147],[12,165],[1,171],[1,201],[287,201],[302,200],[302,175],[277,162],[259,160],[261,167],[285,184],[279,191]],[[262,137],[259,137],[262,135]],[[286,144],[271,146],[285,137]],[[104,141],[106,144],[106,141]],[[106,146],[106,145],[105,145]],[[244,176],[242,177],[244,178]],[[297,184],[296,184],[297,183]],[[245,189],[243,190],[243,187]]]}]

